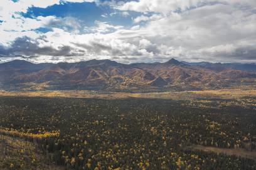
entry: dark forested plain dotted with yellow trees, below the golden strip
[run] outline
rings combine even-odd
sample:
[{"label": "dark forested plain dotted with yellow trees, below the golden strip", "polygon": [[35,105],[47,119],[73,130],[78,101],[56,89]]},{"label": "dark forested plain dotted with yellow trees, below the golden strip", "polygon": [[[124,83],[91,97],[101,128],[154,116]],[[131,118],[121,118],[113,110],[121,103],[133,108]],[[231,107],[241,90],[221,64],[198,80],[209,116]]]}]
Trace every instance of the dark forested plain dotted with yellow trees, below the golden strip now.
[{"label": "dark forested plain dotted with yellow trees, below the golden strip", "polygon": [[2,96],[0,134],[0,169],[256,169],[256,98]]}]

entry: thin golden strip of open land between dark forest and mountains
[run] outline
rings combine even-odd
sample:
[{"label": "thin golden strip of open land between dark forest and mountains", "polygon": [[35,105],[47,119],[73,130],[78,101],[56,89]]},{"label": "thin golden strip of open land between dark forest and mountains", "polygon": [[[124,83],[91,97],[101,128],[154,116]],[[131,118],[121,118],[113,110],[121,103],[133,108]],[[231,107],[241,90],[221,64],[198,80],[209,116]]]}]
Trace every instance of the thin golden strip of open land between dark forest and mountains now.
[{"label": "thin golden strip of open land between dark forest and mountains", "polygon": [[256,97],[256,90],[222,89],[210,91],[181,91],[181,92],[159,92],[159,93],[118,93],[105,91],[0,91],[0,96],[31,96],[47,98],[156,98],[189,100],[197,98],[213,99],[237,99],[243,97]]}]

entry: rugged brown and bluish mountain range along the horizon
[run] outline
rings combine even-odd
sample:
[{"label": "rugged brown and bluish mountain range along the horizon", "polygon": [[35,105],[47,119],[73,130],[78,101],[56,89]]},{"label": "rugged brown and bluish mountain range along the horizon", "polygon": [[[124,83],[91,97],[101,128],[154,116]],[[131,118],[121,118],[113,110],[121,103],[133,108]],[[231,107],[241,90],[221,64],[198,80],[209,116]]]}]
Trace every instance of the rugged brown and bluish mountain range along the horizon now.
[{"label": "rugged brown and bluish mountain range along the horizon", "polygon": [[187,63],[176,59],[134,64],[107,59],[58,64],[14,60],[0,64],[0,88],[10,91],[184,91],[253,88],[254,84],[256,64]]}]

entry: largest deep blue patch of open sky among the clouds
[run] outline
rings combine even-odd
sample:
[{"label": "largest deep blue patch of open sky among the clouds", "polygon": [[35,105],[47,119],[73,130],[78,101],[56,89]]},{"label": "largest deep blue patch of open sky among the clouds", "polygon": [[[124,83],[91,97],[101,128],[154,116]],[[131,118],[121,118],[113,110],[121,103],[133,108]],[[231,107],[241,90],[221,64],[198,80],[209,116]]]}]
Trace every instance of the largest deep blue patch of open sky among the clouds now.
[{"label": "largest deep blue patch of open sky among the clouds", "polygon": [[113,25],[131,26],[132,18],[140,16],[140,12],[130,11],[129,16],[110,8],[110,6],[97,5],[95,2],[64,2],[55,4],[48,8],[31,7],[26,13],[21,13],[23,17],[35,18],[38,16],[75,17],[82,21],[83,26],[95,26],[95,21],[109,22]]}]

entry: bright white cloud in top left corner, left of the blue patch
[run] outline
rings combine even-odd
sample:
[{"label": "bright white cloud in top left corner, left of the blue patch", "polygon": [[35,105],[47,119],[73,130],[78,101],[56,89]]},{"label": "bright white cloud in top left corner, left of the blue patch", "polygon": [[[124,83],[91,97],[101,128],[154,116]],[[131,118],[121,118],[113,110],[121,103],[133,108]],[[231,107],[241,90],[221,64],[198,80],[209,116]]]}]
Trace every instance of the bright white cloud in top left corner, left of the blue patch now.
[{"label": "bright white cloud in top left corner, left of the blue patch", "polygon": [[[92,2],[86,0],[87,2]],[[62,1],[62,2],[71,2]],[[72,2],[82,2],[81,0]],[[21,12],[26,12],[31,6],[46,8],[52,6],[53,4],[60,4],[60,0],[19,0],[13,2],[10,0],[1,0],[0,6],[0,35],[1,44],[7,46],[11,41],[14,41],[17,37],[28,36],[28,37],[38,37],[41,36],[33,29],[38,29],[40,27],[47,27],[48,24],[59,23],[65,28],[73,27],[78,29],[79,22],[77,22],[72,17],[64,17],[62,19],[55,16],[38,16],[34,18],[23,17]],[[65,22],[65,23],[64,23]],[[53,25],[52,25],[53,26]],[[54,26],[53,26],[54,27]]]}]

